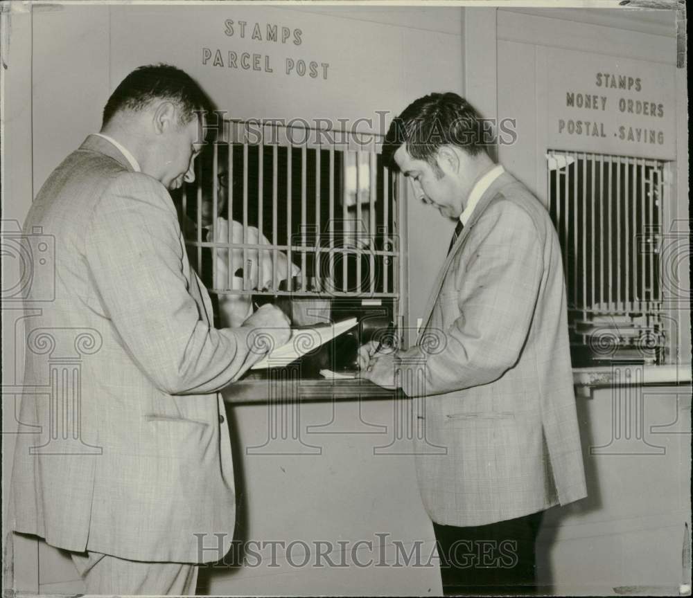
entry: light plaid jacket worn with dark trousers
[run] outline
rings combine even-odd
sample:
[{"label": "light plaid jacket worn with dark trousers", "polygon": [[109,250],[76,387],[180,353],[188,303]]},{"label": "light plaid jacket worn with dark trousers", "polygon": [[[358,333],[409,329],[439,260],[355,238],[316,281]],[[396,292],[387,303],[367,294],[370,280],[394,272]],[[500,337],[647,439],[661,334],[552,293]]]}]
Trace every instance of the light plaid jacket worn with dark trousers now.
[{"label": "light plaid jacket worn with dark trousers", "polygon": [[561,248],[507,172],[477,204],[400,354],[436,523],[486,525],[586,496]]}]

